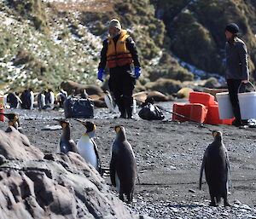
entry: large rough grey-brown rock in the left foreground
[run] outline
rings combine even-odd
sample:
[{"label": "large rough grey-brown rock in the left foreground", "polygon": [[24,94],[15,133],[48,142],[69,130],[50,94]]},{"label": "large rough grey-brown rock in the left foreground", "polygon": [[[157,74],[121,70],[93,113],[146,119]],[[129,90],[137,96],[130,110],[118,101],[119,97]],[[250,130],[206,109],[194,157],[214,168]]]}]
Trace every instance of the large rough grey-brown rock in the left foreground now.
[{"label": "large rough grey-brown rock in the left foreground", "polygon": [[18,131],[0,135],[0,218],[139,218],[78,153],[43,158]]}]

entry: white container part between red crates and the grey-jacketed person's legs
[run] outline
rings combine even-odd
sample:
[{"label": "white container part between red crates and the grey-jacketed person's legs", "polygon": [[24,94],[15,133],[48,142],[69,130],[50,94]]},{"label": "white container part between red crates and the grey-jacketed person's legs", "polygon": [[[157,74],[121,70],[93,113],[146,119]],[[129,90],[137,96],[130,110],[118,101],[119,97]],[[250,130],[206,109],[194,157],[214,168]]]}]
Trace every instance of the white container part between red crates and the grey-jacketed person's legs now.
[{"label": "white container part between red crates and the grey-jacketed person's legs", "polygon": [[218,114],[220,119],[234,118],[229,92],[217,93]]}]

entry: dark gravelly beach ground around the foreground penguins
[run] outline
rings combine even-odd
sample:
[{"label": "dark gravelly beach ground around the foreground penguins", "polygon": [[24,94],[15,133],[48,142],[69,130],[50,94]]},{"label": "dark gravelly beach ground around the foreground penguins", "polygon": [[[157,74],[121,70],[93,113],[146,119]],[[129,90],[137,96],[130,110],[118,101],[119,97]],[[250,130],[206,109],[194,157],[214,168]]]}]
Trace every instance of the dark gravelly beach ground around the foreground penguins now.
[{"label": "dark gravelly beach ground around the foreground penguins", "polygon": [[[171,108],[170,103],[163,104]],[[42,131],[55,125],[53,118],[61,112],[17,110],[25,134],[44,153],[57,151],[61,130]],[[256,134],[255,129],[238,129],[228,125],[204,125],[170,121],[127,120],[113,118],[107,109],[96,110],[95,141],[103,166],[108,167],[117,124],[125,126],[128,141],[134,149],[139,171],[131,208],[154,218],[256,218]],[[72,137],[78,141],[84,134],[82,124],[71,119]],[[3,123],[0,124],[4,129]],[[6,126],[6,124],[4,124]],[[230,155],[230,208],[208,207],[207,184],[198,189],[201,159],[212,142],[210,130],[221,130]],[[109,182],[108,177],[105,178]]]}]

